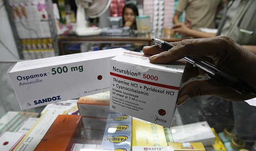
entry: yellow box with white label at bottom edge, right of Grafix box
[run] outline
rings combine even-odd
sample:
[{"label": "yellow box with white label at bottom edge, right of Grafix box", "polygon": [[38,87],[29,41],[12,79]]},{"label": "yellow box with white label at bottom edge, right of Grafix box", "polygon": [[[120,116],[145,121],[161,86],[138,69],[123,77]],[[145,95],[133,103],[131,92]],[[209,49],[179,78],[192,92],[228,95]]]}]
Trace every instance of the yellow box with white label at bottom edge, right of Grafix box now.
[{"label": "yellow box with white label at bottom edge, right of Grafix box", "polygon": [[169,142],[168,145],[172,146],[174,151],[205,151],[204,145],[201,142],[198,142],[198,143]]}]

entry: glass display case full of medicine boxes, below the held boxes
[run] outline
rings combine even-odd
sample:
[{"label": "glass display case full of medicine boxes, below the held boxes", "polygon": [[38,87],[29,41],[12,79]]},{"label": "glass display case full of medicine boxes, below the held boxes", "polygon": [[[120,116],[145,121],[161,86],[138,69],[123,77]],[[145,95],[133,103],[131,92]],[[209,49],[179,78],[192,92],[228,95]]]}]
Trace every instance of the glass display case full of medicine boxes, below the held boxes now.
[{"label": "glass display case full of medicine boxes, below the held boxes", "polygon": [[171,128],[109,110],[109,92],[20,110],[7,73],[17,61],[0,63],[0,150],[256,150],[256,107],[245,101],[191,98]]}]

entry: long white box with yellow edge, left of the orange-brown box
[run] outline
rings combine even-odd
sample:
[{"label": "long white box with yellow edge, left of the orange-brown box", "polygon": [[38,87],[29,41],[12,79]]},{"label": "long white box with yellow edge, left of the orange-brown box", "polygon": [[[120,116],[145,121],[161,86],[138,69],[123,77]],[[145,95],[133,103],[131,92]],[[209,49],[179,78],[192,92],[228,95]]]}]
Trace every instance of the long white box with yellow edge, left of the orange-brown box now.
[{"label": "long white box with yellow edge, left of the orange-brown box", "polygon": [[57,118],[58,114],[66,114],[63,110],[46,110],[44,114],[36,121],[29,132],[15,147],[15,151],[32,151],[40,143],[45,133]]}]

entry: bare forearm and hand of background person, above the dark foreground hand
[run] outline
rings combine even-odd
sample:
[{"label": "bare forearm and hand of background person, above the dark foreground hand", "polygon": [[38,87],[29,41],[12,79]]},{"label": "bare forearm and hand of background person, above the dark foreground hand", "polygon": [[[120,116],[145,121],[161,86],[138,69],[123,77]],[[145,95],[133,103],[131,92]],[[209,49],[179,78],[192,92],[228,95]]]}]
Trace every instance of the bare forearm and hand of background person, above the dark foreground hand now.
[{"label": "bare forearm and hand of background person, above the dark foreground hand", "polygon": [[185,24],[177,24],[172,27],[172,30],[174,32],[178,32],[180,34],[185,34],[185,35],[188,35],[188,36],[194,37],[194,38],[211,38],[211,37],[216,36],[216,34],[213,34],[213,33],[196,31],[196,30],[190,29]]}]

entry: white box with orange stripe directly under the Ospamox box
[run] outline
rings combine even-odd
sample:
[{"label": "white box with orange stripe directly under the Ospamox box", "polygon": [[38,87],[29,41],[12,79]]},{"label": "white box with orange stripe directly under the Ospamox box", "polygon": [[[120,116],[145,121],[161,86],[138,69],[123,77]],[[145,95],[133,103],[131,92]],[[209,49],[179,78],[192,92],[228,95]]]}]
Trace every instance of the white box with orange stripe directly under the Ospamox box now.
[{"label": "white box with orange stripe directly under the Ospamox box", "polygon": [[109,92],[97,93],[79,98],[78,110],[83,117],[107,118],[109,109]]}]

